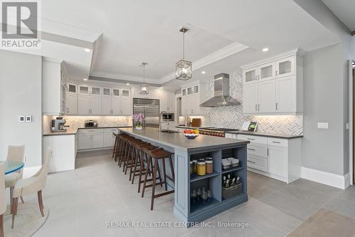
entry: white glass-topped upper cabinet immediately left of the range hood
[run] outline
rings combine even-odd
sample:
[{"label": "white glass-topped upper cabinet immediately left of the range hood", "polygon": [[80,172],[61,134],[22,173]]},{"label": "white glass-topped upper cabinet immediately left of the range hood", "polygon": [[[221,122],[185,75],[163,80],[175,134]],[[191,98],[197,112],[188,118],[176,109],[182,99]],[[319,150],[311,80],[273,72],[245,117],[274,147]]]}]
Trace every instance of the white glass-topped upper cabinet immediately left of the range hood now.
[{"label": "white glass-topped upper cabinet immediately left of the range hood", "polygon": [[195,82],[192,84],[184,85],[181,88],[181,94],[182,115],[204,115],[204,107],[200,107],[200,104],[206,100],[204,98],[204,84]]}]

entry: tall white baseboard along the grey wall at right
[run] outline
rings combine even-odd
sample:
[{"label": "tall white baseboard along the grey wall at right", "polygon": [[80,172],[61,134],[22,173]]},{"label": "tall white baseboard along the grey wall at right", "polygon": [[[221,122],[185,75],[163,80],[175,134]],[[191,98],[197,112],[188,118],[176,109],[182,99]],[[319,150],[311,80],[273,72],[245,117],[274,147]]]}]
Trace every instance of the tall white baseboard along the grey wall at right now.
[{"label": "tall white baseboard along the grey wall at right", "polygon": [[316,181],[321,184],[334,186],[338,189],[346,189],[350,185],[350,174],[332,174],[317,169],[301,167],[301,178]]}]

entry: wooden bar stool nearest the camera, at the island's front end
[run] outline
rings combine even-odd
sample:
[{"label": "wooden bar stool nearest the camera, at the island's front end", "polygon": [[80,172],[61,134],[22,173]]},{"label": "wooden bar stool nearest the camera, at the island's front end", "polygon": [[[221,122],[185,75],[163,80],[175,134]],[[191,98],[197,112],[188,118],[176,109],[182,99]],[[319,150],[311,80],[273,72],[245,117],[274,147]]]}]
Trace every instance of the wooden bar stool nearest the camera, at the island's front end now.
[{"label": "wooden bar stool nearest the camera, at the island's front end", "polygon": [[[174,167],[173,167],[173,159],[171,158],[171,155],[173,153],[166,151],[165,149],[153,149],[151,151],[147,151],[146,152],[148,154],[148,161],[147,161],[147,169],[146,169],[146,175],[145,175],[145,179],[144,179],[144,183],[143,183],[143,191],[142,191],[142,197],[144,196],[144,191],[146,189],[146,187],[149,186],[153,186],[153,190],[152,190],[152,196],[151,196],[151,210],[153,210],[153,206],[154,206],[154,199],[160,197],[160,196],[165,196],[168,194],[173,194],[175,192],[175,190],[170,190],[168,191],[168,185],[167,185],[167,179],[170,179],[171,181],[175,181],[175,173],[174,173]],[[146,182],[148,181],[148,172],[151,169],[151,160],[154,160],[154,167],[152,167],[153,169],[153,184],[147,185]],[[173,175],[173,177],[169,177],[166,174],[166,169],[165,169],[165,159],[169,159],[170,162],[170,170],[171,170],[171,174]],[[161,177],[160,177],[160,181],[159,183],[156,182],[156,174],[158,172],[158,167],[159,167],[159,160],[161,160],[162,165],[163,165],[163,175],[164,175],[164,180],[162,181]],[[165,184],[165,192],[160,193],[160,194],[155,194],[155,185],[158,184]]]}]

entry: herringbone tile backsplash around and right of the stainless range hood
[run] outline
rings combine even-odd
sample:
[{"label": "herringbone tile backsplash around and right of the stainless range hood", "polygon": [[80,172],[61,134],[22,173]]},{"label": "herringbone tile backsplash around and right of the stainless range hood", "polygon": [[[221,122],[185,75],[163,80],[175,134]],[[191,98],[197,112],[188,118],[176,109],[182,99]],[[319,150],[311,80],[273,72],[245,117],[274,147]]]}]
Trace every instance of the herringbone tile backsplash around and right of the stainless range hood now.
[{"label": "herringbone tile backsplash around and right of the stainless range hood", "polygon": [[[231,97],[239,100],[241,105],[208,107],[204,115],[204,127],[225,127],[240,129],[243,122],[258,122],[258,132],[273,134],[302,135],[303,115],[243,115],[243,72],[229,75]],[[214,95],[214,81],[206,83],[206,100]]]}]

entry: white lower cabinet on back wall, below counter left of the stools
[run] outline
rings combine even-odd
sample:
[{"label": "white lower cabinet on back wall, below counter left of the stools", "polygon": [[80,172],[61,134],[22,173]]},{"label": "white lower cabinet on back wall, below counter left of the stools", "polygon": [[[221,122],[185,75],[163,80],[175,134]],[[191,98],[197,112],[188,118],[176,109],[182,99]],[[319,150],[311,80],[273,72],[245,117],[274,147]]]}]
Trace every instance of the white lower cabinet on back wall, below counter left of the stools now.
[{"label": "white lower cabinet on back wall, below counter left of the stools", "polygon": [[79,130],[79,149],[100,149],[114,147],[113,132],[116,128],[81,129]]}]

